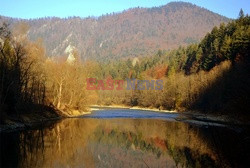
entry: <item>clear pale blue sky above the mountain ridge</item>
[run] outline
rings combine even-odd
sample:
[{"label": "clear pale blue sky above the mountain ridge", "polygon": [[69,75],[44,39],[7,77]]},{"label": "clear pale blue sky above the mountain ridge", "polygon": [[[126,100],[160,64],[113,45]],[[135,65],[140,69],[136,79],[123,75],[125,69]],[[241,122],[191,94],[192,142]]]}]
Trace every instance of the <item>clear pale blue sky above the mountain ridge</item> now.
[{"label": "clear pale blue sky above the mountain ridge", "polygon": [[[173,0],[0,0],[0,15],[32,19],[46,16],[101,16],[133,7],[155,7]],[[176,1],[176,0],[174,0]],[[250,13],[250,0],[182,0],[229,18],[237,18],[242,8]]]}]

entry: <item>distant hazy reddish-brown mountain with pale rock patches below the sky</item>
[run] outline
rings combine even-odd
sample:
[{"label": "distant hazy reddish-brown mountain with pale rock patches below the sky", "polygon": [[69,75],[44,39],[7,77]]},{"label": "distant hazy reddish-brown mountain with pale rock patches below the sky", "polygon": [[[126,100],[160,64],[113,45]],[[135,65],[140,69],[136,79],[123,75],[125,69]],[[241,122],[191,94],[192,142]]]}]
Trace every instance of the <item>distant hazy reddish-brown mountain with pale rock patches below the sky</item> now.
[{"label": "distant hazy reddish-brown mountain with pale rock patches below the sky", "polygon": [[230,19],[184,2],[133,8],[98,18],[69,17],[21,20],[30,25],[31,40],[42,38],[47,54],[61,56],[76,48],[85,60],[146,56],[158,49],[199,42],[214,26]]}]

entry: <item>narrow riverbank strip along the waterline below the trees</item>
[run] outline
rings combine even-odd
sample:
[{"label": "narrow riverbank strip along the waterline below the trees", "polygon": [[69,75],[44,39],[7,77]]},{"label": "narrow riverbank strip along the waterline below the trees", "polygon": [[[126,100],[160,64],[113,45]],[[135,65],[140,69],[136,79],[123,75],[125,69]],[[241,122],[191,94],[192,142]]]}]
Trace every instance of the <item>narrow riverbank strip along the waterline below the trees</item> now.
[{"label": "narrow riverbank strip along the waterline below the trees", "polygon": [[203,114],[197,111],[178,112],[176,110],[161,110],[156,108],[145,108],[145,107],[130,107],[125,105],[91,105],[84,111],[63,109],[57,110],[52,107],[46,107],[42,111],[33,111],[32,113],[25,113],[20,115],[5,116],[4,123],[0,124],[0,132],[10,132],[16,130],[24,130],[37,127],[39,125],[46,124],[50,121],[61,120],[64,118],[79,117],[82,115],[90,114],[92,111],[102,109],[131,109],[131,110],[143,110],[153,111],[160,113],[175,113],[180,114],[175,118],[179,122],[188,122],[194,124],[225,124],[225,125],[250,125],[249,122],[242,122],[237,119],[233,119],[226,115],[215,115],[215,114]]}]

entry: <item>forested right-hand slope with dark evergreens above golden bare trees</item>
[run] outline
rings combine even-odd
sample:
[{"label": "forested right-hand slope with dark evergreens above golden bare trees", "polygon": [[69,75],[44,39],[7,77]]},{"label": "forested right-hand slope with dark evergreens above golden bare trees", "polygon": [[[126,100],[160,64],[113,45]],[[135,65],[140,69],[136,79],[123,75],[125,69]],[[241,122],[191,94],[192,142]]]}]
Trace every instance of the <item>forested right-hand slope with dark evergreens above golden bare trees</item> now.
[{"label": "forested right-hand slope with dark evergreens above golden bare trees", "polygon": [[219,112],[246,119],[250,116],[249,46],[250,17],[241,11],[237,20],[214,27],[200,43],[169,52],[159,50],[154,56],[137,60],[95,65],[92,69],[100,79],[111,76],[112,79],[162,79],[164,82],[162,91],[99,91],[99,101]]}]

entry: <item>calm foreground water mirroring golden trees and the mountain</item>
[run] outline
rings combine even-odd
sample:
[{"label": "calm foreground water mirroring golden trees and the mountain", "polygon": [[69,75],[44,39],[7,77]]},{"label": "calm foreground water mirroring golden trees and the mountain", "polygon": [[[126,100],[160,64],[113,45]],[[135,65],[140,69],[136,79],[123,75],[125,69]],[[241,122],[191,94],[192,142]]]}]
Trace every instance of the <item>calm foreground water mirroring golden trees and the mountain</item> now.
[{"label": "calm foreground water mirroring golden trees and the mountain", "polygon": [[65,119],[2,133],[1,167],[246,166],[234,137],[241,133],[157,119]]}]

